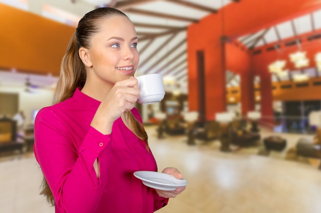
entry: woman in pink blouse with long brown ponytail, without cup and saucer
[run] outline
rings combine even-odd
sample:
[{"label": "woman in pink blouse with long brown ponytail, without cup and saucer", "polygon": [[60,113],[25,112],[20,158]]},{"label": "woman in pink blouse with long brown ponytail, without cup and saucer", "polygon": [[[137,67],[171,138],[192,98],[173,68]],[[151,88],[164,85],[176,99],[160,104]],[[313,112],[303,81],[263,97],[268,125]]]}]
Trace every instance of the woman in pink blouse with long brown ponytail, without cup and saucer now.
[{"label": "woman in pink blouse with long brown ponytail, without cup and saucer", "polygon": [[[134,108],[137,40],[132,22],[113,8],[95,9],[78,23],[62,60],[56,104],[35,121],[42,194],[56,212],[153,212],[185,190],[155,190],[133,176],[157,171]],[[163,173],[182,178],[175,168]]]}]

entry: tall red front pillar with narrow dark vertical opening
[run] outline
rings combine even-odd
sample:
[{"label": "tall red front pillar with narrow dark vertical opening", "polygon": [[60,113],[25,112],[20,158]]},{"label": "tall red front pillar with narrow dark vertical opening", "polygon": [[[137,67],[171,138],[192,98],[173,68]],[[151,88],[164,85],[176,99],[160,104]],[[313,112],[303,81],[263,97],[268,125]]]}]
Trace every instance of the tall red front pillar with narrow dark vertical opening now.
[{"label": "tall red front pillar with narrow dark vertical opening", "polygon": [[[214,16],[216,18],[217,16]],[[219,18],[219,17],[218,17]],[[208,16],[198,24],[188,28],[188,100],[191,111],[198,110],[198,83],[196,52],[204,51],[205,54],[205,87],[206,87],[206,119],[213,120],[214,112],[225,111],[226,94],[223,45],[219,41],[220,21],[217,25],[208,27],[212,16]]]}]

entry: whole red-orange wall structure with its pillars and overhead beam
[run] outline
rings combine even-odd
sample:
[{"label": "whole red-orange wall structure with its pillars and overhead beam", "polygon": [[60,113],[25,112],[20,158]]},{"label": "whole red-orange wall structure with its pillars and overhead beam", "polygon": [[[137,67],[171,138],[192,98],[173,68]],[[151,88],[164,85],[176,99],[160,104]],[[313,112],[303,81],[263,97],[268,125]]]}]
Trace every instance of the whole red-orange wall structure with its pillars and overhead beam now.
[{"label": "whole red-orange wall structure with its pillars and overhead beam", "polygon": [[[237,69],[236,72],[242,73],[242,79],[248,79],[248,82],[253,84],[251,78],[253,78],[254,70],[255,72],[264,72],[264,70],[258,68],[258,64],[264,66],[264,61],[269,61],[267,59],[263,59],[264,61],[246,59],[245,54],[234,50],[229,45],[222,48],[221,35],[236,38],[319,8],[321,8],[319,0],[242,0],[238,3],[231,3],[216,14],[210,14],[198,23],[190,25],[187,31],[190,110],[198,109],[197,101],[195,101],[198,96],[196,51],[203,50],[205,52],[206,117],[207,120],[212,120],[216,112],[226,110],[226,67]],[[224,29],[222,28],[223,20]],[[230,56],[229,51],[235,54],[235,58]],[[246,63],[250,61],[249,66],[244,65],[244,61],[238,60],[236,57],[243,58]],[[250,67],[250,69],[247,67]],[[262,77],[262,114],[269,117],[272,116],[271,78],[267,73],[260,76]],[[243,80],[243,82],[246,81]],[[251,92],[253,88],[245,85],[241,85],[241,87],[248,93],[248,97],[242,98],[242,104],[246,105],[244,109],[252,109],[254,101],[252,101],[253,97],[251,98],[249,93],[253,96],[253,92]]]}]

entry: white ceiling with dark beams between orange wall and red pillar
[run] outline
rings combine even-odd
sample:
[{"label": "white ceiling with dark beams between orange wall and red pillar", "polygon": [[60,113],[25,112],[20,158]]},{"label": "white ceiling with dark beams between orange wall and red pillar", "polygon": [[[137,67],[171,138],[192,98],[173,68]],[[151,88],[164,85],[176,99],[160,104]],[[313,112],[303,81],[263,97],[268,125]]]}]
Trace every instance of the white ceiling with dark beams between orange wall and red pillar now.
[{"label": "white ceiling with dark beams between orange wall and red pillar", "polygon": [[[139,39],[137,49],[140,61],[137,75],[160,73],[164,79],[170,79],[187,92],[187,27],[199,19],[216,13],[228,4],[237,4],[239,0],[0,0],[7,4],[33,13],[65,20],[70,25],[76,25],[85,13],[90,10],[109,6],[125,12],[134,23]],[[98,5],[93,4],[98,2]],[[107,4],[102,4],[107,2]],[[32,4],[31,4],[32,3]],[[25,6],[24,6],[25,4]],[[42,4],[42,7],[35,6]],[[46,5],[46,7],[44,7]],[[54,8],[61,13],[43,11],[44,8]],[[39,8],[43,8],[39,11]],[[62,18],[66,13],[74,16],[70,20]],[[70,16],[69,16],[70,17]]]}]

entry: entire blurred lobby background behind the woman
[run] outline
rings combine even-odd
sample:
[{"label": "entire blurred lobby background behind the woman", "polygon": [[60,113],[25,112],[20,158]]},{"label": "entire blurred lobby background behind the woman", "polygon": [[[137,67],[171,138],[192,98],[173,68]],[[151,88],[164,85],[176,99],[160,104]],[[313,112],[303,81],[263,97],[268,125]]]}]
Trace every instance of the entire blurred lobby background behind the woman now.
[{"label": "entire blurred lobby background behind the woman", "polygon": [[164,99],[136,108],[158,169],[189,184],[157,212],[321,212],[319,0],[0,0],[0,212],[54,212],[34,119],[77,21],[101,6],[136,26],[136,76],[163,75]]}]

